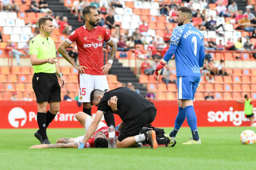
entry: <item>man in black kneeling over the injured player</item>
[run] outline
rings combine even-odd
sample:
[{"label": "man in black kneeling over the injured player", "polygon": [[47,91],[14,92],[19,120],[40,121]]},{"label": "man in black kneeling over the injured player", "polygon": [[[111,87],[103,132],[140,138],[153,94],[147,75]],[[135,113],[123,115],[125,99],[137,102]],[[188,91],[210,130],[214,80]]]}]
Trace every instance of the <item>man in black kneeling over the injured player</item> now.
[{"label": "man in black kneeling over the injured player", "polygon": [[115,114],[120,116],[124,124],[116,141],[116,148],[131,147],[142,141],[150,144],[151,148],[158,147],[155,131],[140,134],[142,127],[154,121],[156,108],[152,102],[137,92],[127,87],[119,87],[109,92],[95,89],[90,94],[90,103],[98,107],[98,111],[81,145],[85,144],[93,135],[103,114],[107,111],[114,111]]}]

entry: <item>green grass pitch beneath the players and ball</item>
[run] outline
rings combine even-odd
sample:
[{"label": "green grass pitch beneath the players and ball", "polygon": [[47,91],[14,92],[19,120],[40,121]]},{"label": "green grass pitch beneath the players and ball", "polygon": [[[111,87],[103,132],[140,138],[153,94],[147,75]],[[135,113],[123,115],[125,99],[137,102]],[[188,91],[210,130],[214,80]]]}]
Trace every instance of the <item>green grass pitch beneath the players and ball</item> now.
[{"label": "green grass pitch beneath the players and ball", "polygon": [[[0,129],[1,169],[254,169],[255,145],[242,145],[242,131],[255,127],[200,127],[202,145],[182,145],[191,135],[181,128],[175,147],[28,149],[40,144],[35,129]],[[164,128],[170,132],[172,128]],[[52,144],[60,137],[82,136],[84,129],[48,129]]]}]

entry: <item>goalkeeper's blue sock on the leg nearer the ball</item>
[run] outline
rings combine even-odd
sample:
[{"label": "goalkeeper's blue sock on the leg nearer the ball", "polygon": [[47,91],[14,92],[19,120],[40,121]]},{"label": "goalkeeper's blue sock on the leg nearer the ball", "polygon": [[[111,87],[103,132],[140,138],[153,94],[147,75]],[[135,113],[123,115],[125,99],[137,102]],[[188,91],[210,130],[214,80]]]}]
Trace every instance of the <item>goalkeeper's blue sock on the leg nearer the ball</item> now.
[{"label": "goalkeeper's blue sock on the leg nearer the ball", "polygon": [[187,117],[187,124],[192,132],[192,137],[194,140],[199,140],[198,131],[197,131],[197,116],[195,115],[195,110],[193,106],[187,106],[184,108]]}]

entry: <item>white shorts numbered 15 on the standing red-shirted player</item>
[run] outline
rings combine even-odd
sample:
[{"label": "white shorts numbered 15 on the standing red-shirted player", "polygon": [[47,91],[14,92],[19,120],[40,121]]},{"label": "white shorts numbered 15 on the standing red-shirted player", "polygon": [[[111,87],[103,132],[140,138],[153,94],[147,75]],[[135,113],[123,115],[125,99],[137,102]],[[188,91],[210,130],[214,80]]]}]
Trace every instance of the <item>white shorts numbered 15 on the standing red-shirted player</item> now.
[{"label": "white shorts numbered 15 on the standing red-shirted player", "polygon": [[79,102],[90,102],[90,94],[94,89],[109,91],[106,75],[79,74]]}]

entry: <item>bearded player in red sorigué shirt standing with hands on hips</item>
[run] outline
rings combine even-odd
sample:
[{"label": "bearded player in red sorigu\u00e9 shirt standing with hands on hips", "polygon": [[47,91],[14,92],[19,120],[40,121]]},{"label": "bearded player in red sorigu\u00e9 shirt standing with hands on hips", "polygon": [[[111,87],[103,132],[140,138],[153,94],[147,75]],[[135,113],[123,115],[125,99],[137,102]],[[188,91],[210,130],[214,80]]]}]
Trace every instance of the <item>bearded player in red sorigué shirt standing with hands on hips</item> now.
[{"label": "bearded player in red sorigu\u00e9 shirt standing with hands on hips", "polygon": [[[92,116],[90,93],[94,89],[109,90],[106,73],[112,66],[117,46],[108,31],[98,26],[100,17],[95,6],[85,7],[83,17],[85,18],[85,25],[73,31],[58,47],[58,52],[79,71],[79,102],[83,102],[83,112]],[[104,41],[111,47],[110,57],[106,65],[104,65],[103,53]],[[79,64],[75,63],[66,51],[73,42],[77,43]],[[108,126],[114,124],[113,113],[106,113],[105,120]]]}]

